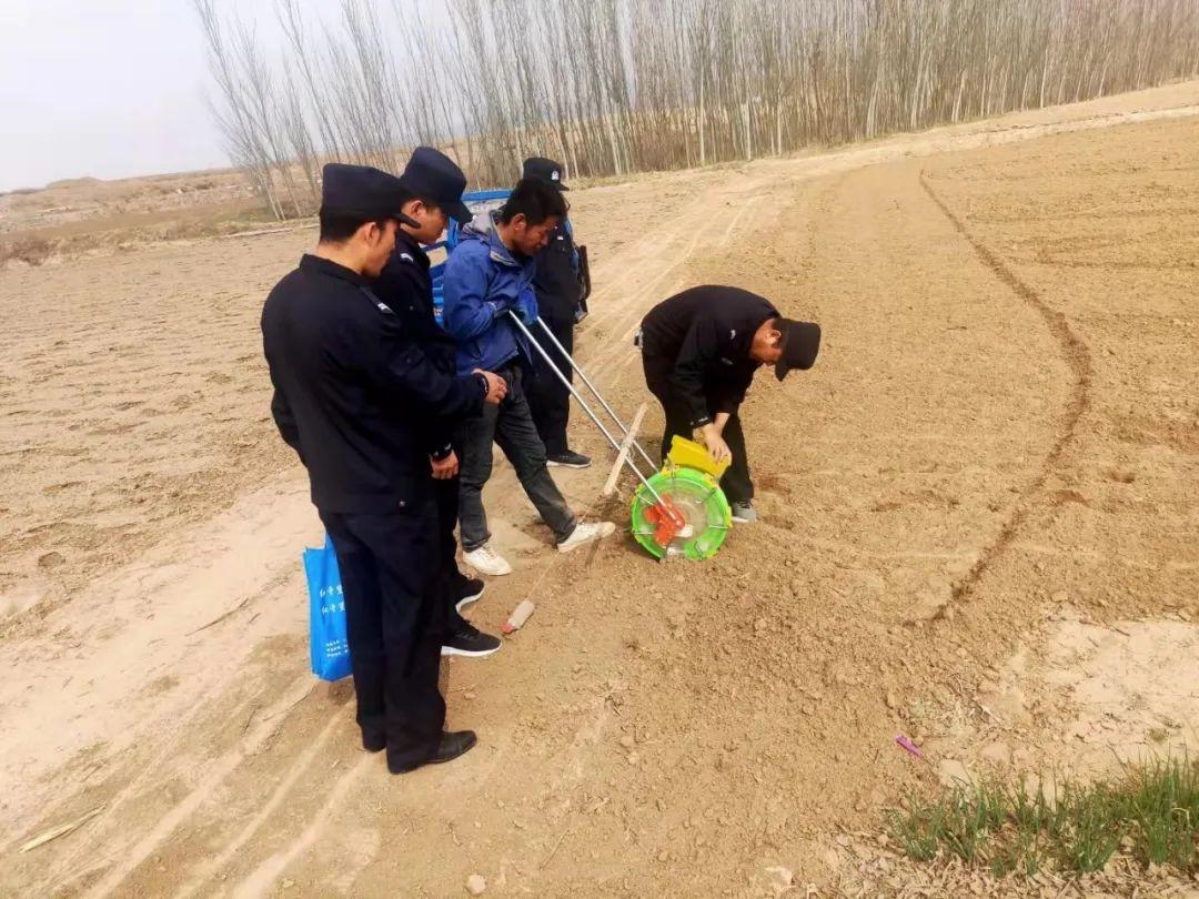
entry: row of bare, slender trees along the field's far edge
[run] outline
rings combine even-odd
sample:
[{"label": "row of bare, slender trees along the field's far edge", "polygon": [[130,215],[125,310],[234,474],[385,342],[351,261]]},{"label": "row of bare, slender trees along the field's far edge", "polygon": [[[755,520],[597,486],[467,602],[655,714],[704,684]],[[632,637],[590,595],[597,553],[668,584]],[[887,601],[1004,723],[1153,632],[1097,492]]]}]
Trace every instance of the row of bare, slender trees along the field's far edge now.
[{"label": "row of bare, slender trees along the field's far edge", "polygon": [[1199,0],[276,0],[275,58],[218,2],[193,0],[213,113],[279,218],[315,209],[323,161],[416,144],[480,186],[535,153],[621,175],[1199,73]]}]

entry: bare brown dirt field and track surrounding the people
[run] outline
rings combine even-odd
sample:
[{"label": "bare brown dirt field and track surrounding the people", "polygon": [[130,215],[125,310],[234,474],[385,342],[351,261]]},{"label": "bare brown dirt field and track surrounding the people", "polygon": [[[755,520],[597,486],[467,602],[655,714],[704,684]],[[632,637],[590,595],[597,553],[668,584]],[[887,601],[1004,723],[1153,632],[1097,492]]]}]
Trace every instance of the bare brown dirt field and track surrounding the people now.
[{"label": "bare brown dirt field and track surrounding the people", "polygon": [[[935,777],[894,734],[995,738],[971,698],[1047,609],[1199,614],[1197,103],[1176,85],[572,195],[601,285],[582,356],[617,408],[644,394],[632,330],[685,284],[759,290],[826,345],[759,379],[765,523],[703,578],[627,542],[549,553],[501,470],[520,571],[475,617],[541,605],[447,666],[480,749],[403,779],[357,749],[348,686],[305,668],[296,554],[319,526],[254,326],[308,235],[0,273],[0,577],[42,598],[0,642],[0,891],[835,882],[831,828]],[[604,475],[564,484],[584,508]],[[1034,699],[1004,738],[1049,752],[1067,705]]]}]

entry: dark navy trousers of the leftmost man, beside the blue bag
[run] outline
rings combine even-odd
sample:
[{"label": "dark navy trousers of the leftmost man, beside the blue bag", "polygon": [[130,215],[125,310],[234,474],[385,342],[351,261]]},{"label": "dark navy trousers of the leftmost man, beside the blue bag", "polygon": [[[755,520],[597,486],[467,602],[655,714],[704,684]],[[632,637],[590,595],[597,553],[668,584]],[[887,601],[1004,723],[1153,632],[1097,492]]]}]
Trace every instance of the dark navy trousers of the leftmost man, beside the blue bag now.
[{"label": "dark navy trousers of the leftmost man, beside the blue bag", "polygon": [[363,736],[387,741],[392,767],[418,765],[441,740],[438,690],[446,604],[432,499],[386,514],[321,512],[345,591],[350,668]]}]

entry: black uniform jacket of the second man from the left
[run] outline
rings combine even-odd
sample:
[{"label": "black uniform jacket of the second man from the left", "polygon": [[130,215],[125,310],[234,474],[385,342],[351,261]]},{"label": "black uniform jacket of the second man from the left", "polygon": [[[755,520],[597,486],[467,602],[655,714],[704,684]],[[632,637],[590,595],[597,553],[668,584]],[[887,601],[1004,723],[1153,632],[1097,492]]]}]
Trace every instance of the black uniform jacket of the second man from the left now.
[{"label": "black uniform jacket of the second man from the left", "polygon": [[[433,278],[429,257],[420,242],[406,231],[396,231],[396,251],[374,283],[374,291],[392,308],[404,328],[439,372],[453,378],[458,373],[457,345],[434,315]],[[434,459],[451,451],[456,418],[432,416],[423,422],[426,450]]]}]

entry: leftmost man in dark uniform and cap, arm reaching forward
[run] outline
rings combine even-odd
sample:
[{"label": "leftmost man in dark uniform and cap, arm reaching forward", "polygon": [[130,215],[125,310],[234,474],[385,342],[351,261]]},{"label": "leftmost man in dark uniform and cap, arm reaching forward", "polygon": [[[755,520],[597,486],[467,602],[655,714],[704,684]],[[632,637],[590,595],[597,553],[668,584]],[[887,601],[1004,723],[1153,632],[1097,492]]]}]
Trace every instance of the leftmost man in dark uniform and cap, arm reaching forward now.
[{"label": "leftmost man in dark uniform and cap, arm reaching forward", "polygon": [[386,749],[400,773],[476,742],[444,730],[436,507],[414,422],[477,415],[507,387],[487,372],[440,372],[372,290],[397,224],[417,224],[400,211],[399,179],[341,164],[323,175],[319,242],[266,298],[263,349],[271,412],[337,553],[362,746]]}]

